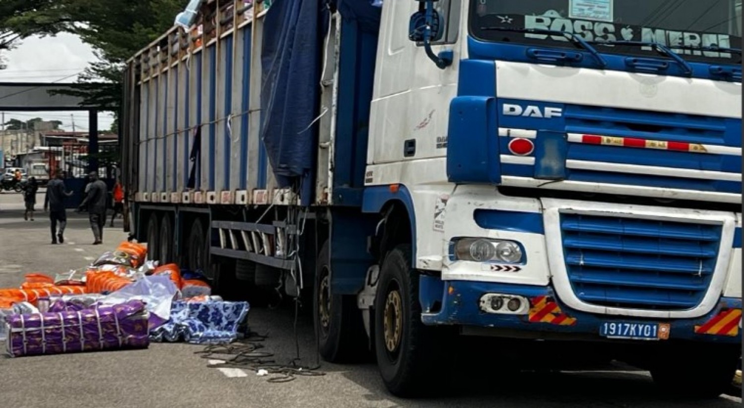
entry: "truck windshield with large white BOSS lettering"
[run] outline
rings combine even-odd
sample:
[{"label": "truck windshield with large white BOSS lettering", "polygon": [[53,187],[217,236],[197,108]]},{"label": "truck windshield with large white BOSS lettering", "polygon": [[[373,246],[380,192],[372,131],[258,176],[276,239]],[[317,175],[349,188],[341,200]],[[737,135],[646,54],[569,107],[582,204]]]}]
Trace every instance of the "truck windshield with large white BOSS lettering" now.
[{"label": "truck windshield with large white BOSS lettering", "polygon": [[565,32],[600,52],[639,57],[659,57],[638,46],[656,42],[690,62],[738,64],[741,7],[742,0],[472,0],[469,30],[486,42],[576,48],[569,36],[534,31]]}]

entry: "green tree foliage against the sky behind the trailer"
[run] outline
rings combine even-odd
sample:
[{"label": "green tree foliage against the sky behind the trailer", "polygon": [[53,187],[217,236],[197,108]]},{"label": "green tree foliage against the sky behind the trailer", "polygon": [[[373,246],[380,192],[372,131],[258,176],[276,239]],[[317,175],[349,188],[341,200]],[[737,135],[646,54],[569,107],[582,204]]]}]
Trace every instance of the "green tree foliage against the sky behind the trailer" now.
[{"label": "green tree foliage against the sky behind the trailer", "polygon": [[83,97],[86,105],[118,113],[124,63],[173,26],[187,4],[188,0],[0,0],[0,51],[33,35],[80,36],[101,61],[86,68],[79,82],[110,86],[58,93]]}]

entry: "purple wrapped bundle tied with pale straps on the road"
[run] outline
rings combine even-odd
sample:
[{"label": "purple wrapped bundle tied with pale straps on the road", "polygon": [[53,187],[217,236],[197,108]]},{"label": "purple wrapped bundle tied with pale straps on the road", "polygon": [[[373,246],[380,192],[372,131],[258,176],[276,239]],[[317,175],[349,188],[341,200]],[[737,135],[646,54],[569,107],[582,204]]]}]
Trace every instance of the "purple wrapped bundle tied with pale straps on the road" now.
[{"label": "purple wrapped bundle tied with pale straps on the road", "polygon": [[7,317],[10,357],[147,348],[148,313],[143,302],[94,306],[80,311]]}]

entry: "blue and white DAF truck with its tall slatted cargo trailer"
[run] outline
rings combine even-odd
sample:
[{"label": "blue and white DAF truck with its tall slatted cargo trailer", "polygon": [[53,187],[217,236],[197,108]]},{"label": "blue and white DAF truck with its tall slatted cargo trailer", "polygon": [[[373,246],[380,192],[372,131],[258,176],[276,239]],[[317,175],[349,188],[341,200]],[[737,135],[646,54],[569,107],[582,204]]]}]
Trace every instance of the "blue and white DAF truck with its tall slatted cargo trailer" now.
[{"label": "blue and white DAF truck with its tall slatted cargo trailer", "polygon": [[126,70],[132,237],[222,290],[312,293],[324,359],[371,349],[395,395],[446,388],[463,336],[719,395],[741,355],[740,16],[194,0]]}]

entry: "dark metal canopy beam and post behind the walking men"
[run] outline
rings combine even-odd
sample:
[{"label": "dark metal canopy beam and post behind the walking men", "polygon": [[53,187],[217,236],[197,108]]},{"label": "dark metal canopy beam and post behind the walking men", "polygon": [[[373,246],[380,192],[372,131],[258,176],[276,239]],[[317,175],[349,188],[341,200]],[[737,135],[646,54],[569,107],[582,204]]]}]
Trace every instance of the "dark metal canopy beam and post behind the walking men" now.
[{"label": "dark metal canopy beam and post behind the walking men", "polygon": [[[94,84],[84,86],[77,83],[20,83],[0,82],[0,111],[88,111],[90,157],[89,171],[98,170],[98,112],[102,106],[89,106],[83,98],[56,93],[64,90],[90,89]],[[101,86],[110,84],[101,83]]]}]

